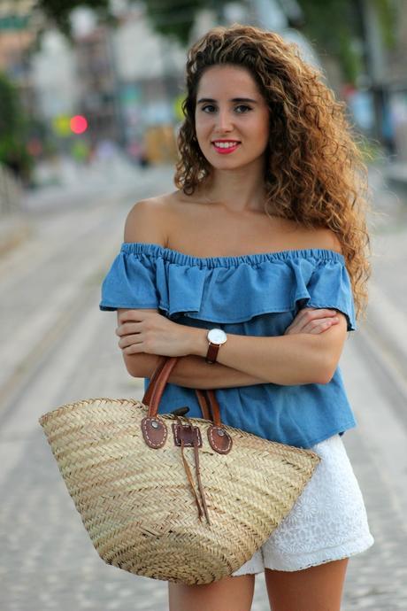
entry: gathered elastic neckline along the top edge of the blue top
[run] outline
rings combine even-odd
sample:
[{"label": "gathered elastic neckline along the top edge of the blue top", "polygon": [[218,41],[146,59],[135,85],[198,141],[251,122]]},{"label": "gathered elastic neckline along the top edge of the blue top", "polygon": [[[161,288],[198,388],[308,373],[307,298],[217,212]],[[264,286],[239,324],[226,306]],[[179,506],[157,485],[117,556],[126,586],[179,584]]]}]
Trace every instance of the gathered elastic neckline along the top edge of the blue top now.
[{"label": "gathered elastic neckline along the top edge of the blue top", "polygon": [[198,267],[234,267],[242,263],[258,265],[265,261],[287,260],[287,259],[324,259],[344,263],[344,257],[340,252],[331,251],[327,248],[303,248],[287,251],[257,252],[224,257],[196,257],[185,252],[175,251],[173,248],[165,248],[161,244],[150,242],[123,242],[121,251],[129,254],[146,254],[153,257],[162,257],[172,263],[186,266]]}]

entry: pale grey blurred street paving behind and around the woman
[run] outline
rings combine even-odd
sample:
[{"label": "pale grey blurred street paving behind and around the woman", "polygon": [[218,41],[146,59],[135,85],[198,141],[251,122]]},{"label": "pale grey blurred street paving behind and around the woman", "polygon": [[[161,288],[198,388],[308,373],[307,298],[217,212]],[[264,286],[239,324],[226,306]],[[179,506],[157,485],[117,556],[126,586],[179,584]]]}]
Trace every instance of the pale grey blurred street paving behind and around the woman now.
[{"label": "pale grey blurred street paving behind and around the woman", "polygon": [[[170,174],[152,176],[145,189],[152,192],[152,184],[157,191],[167,189]],[[8,359],[7,376],[0,380],[2,611],[167,609],[165,582],[100,560],[37,422],[41,414],[78,398],[142,397],[142,382],[127,375],[117,347],[116,314],[98,310],[100,281],[134,199],[127,193],[114,203],[108,197],[92,213],[76,208],[44,217],[32,243],[0,259],[6,321],[1,334]],[[402,231],[400,225],[396,229]],[[382,230],[381,236],[387,231],[392,236],[388,225]],[[78,234],[84,239],[78,241]],[[375,267],[376,281],[380,278],[391,299],[402,266],[395,267],[395,260],[388,251],[380,271]],[[341,361],[359,424],[343,440],[375,538],[375,545],[349,561],[343,611],[407,609],[405,397],[395,394],[374,352],[375,341],[363,329],[349,334]],[[260,575],[252,611],[268,608]]]}]

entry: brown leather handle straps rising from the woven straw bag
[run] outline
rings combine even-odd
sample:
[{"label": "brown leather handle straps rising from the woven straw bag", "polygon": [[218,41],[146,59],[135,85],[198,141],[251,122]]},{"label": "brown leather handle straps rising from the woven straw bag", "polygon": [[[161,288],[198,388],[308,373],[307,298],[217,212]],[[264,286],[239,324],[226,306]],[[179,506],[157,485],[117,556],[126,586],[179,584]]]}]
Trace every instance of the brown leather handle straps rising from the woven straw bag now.
[{"label": "brown leather handle straps rising from the woven straw bag", "polygon": [[[149,406],[149,418],[155,418],[157,415],[165,384],[168,382],[177,360],[178,357],[163,357],[150,378],[149,387],[142,398],[142,403]],[[196,397],[204,419],[211,420],[216,426],[221,426],[220,408],[214,391],[196,389]]]}]

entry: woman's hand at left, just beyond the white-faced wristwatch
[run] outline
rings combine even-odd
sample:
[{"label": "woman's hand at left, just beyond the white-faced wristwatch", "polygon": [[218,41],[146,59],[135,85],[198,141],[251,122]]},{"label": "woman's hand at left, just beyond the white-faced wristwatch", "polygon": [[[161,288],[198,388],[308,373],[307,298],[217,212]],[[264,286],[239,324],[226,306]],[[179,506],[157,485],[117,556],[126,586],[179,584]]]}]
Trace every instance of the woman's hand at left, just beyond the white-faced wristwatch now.
[{"label": "woman's hand at left, just beyond the white-faced wristwatch", "polygon": [[192,334],[199,330],[149,310],[125,310],[119,313],[118,322],[116,335],[125,354],[186,356],[191,351]]}]

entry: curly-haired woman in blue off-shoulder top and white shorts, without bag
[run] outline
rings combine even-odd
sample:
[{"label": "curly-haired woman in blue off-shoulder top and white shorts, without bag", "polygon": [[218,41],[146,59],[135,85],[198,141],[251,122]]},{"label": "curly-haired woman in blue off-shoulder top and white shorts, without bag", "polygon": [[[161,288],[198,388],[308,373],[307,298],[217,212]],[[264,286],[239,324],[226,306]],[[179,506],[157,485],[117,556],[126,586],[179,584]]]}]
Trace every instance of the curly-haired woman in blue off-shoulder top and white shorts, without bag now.
[{"label": "curly-haired woman in blue off-shoulder top and white shorts, without bag", "polygon": [[322,458],[253,558],[213,584],[169,584],[171,611],[248,611],[263,570],[273,611],[334,611],[349,556],[373,543],[338,367],[369,275],[364,166],[320,76],[271,32],[204,35],[188,54],[177,190],[134,205],[104,279],[130,375],[147,386],[160,355],[181,357],[161,412],[200,416],[194,389],[217,389],[226,424]]}]

